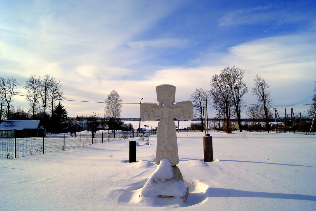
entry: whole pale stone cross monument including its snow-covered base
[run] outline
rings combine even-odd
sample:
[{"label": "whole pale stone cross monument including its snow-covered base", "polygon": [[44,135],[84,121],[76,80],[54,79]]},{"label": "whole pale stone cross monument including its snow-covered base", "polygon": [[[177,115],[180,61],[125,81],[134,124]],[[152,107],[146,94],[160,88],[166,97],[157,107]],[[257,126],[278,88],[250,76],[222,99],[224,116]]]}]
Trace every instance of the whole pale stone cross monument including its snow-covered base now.
[{"label": "whole pale stone cross monument including its snow-covered base", "polygon": [[176,166],[179,163],[176,127],[173,121],[192,120],[192,102],[174,103],[176,87],[173,85],[156,86],[156,103],[142,103],[140,115],[142,121],[160,120],[157,132],[155,172],[144,185],[141,196],[175,198],[181,197],[184,202],[189,194],[189,187],[183,182],[182,174]]}]

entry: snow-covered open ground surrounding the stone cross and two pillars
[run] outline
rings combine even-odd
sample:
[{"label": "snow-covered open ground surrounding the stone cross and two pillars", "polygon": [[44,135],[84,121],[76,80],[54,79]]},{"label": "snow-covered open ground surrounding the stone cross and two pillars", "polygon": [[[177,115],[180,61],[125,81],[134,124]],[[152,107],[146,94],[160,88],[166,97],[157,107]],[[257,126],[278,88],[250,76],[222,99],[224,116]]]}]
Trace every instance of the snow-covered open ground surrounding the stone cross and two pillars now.
[{"label": "snow-covered open ground surrounding the stone cross and two pillars", "polygon": [[186,203],[138,198],[156,166],[153,135],[137,163],[127,162],[131,139],[1,160],[0,210],[315,210],[315,136],[210,134],[216,162],[203,162],[204,133],[177,133]]}]

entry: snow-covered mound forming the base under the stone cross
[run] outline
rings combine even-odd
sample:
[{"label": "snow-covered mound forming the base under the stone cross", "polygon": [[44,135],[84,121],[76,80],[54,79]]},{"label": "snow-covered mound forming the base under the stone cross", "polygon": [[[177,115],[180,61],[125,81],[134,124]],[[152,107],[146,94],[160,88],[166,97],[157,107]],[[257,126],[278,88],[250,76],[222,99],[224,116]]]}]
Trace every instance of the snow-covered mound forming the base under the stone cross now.
[{"label": "snow-covered mound forming the base under the stone cross", "polygon": [[149,177],[141,196],[185,196],[187,187],[181,180],[176,180],[173,167],[167,158],[163,158],[157,166],[155,172]]}]

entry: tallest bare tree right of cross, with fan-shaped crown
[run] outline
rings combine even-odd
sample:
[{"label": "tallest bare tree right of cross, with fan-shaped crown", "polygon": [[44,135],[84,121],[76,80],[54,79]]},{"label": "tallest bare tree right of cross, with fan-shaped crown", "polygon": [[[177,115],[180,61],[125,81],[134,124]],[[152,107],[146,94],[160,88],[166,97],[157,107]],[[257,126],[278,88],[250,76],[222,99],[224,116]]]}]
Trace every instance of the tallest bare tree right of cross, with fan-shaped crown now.
[{"label": "tallest bare tree right of cross, with fan-shaped crown", "polygon": [[245,70],[240,67],[225,67],[222,69],[225,83],[228,84],[229,90],[232,96],[232,102],[234,104],[239,131],[242,132],[242,125],[240,121],[240,112],[245,106],[245,94],[248,92],[246,83],[244,81]]}]

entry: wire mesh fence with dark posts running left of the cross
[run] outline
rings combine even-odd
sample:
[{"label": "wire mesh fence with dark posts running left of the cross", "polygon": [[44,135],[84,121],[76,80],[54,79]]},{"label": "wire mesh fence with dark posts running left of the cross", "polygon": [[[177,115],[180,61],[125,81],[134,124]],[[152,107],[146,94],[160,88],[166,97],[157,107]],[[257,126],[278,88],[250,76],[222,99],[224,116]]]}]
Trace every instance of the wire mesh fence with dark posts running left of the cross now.
[{"label": "wire mesh fence with dark posts running left of the cross", "polygon": [[62,151],[89,144],[105,143],[127,138],[136,138],[144,135],[154,135],[157,131],[126,132],[116,131],[115,137],[110,131],[97,131],[92,134],[79,133],[76,137],[70,134],[55,134],[47,137],[30,138],[0,138],[0,160],[18,158],[28,155],[40,155],[46,152]]}]

